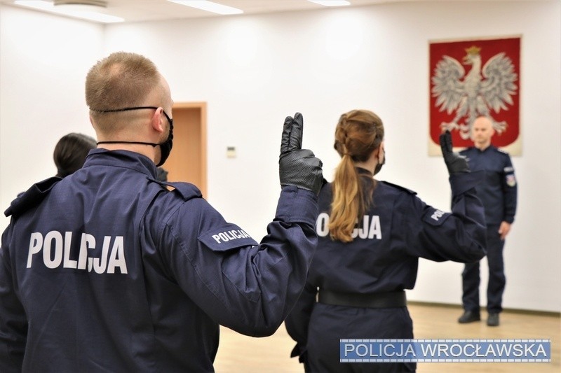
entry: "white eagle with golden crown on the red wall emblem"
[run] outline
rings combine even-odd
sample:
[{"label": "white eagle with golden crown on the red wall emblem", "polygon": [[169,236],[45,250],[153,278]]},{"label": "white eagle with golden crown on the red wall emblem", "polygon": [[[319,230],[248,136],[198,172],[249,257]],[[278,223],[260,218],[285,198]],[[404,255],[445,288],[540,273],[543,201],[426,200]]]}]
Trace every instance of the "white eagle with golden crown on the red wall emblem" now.
[{"label": "white eagle with golden crown on the red wall emblem", "polygon": [[493,128],[501,134],[508,123],[494,120],[491,109],[495,113],[508,110],[507,104],[513,105],[512,96],[518,90],[514,84],[518,76],[511,59],[501,52],[489,58],[481,68],[480,50],[475,45],[466,49],[463,62],[471,65],[468,73],[457,59],[445,55],[436,64],[431,78],[435,106],[448,114],[456,112],[452,122],[442,122],[440,127],[450,131],[458,129],[462,139],[470,138],[471,125],[480,115],[489,117]]}]

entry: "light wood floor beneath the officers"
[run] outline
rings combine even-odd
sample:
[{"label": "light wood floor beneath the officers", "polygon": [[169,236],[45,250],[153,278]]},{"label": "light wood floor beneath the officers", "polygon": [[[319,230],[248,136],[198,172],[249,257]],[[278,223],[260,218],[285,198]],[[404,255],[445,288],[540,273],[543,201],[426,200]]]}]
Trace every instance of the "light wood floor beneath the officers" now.
[{"label": "light wood floor beneath the officers", "polygon": [[[507,310],[501,314],[499,327],[488,327],[485,312],[482,312],[480,323],[459,324],[460,307],[410,304],[409,310],[417,339],[551,339],[551,363],[417,363],[419,373],[561,372],[559,316]],[[265,338],[247,337],[222,328],[215,370],[217,373],[304,372],[297,358],[289,358],[294,345],[284,325],[274,335]]]}]

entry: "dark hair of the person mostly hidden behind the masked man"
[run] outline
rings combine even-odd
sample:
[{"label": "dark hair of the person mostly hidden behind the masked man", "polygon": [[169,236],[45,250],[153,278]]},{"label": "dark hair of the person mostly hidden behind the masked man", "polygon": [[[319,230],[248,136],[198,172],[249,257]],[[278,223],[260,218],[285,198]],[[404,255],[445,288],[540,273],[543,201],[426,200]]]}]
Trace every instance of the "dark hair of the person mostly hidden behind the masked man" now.
[{"label": "dark hair of the person mostly hidden behind the masked man", "polygon": [[96,147],[95,139],[85,134],[72,133],[62,136],[53,153],[57,167],[56,176],[64,178],[81,169],[83,162],[86,162],[86,155]]}]

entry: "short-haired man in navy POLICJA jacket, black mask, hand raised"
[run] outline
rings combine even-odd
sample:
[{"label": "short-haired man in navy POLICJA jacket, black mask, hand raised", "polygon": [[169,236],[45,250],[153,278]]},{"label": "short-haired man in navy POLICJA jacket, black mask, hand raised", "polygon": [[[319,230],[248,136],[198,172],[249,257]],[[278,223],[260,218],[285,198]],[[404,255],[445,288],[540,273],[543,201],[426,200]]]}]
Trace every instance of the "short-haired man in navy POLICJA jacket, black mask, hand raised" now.
[{"label": "short-haired man in navy POLICJA jacket, black mask, hand raised", "polygon": [[0,372],[212,372],[219,324],[273,334],[317,244],[323,176],[301,148],[302,115],[285,120],[276,216],[258,244],[194,185],[156,180],[173,101],[149,59],[97,62],[86,102],[98,148],[6,211]]}]

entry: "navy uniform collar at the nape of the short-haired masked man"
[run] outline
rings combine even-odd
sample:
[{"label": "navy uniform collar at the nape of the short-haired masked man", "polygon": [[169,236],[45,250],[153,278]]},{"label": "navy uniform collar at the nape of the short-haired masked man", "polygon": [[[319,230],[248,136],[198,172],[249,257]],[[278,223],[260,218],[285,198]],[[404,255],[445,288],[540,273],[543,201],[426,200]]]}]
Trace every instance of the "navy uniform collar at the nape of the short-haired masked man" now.
[{"label": "navy uniform collar at the nape of the short-haired masked man", "polygon": [[146,155],[131,152],[130,150],[107,150],[103,148],[90,150],[83,167],[100,164],[104,166],[126,167],[147,174],[151,178],[156,178],[156,164]]}]

